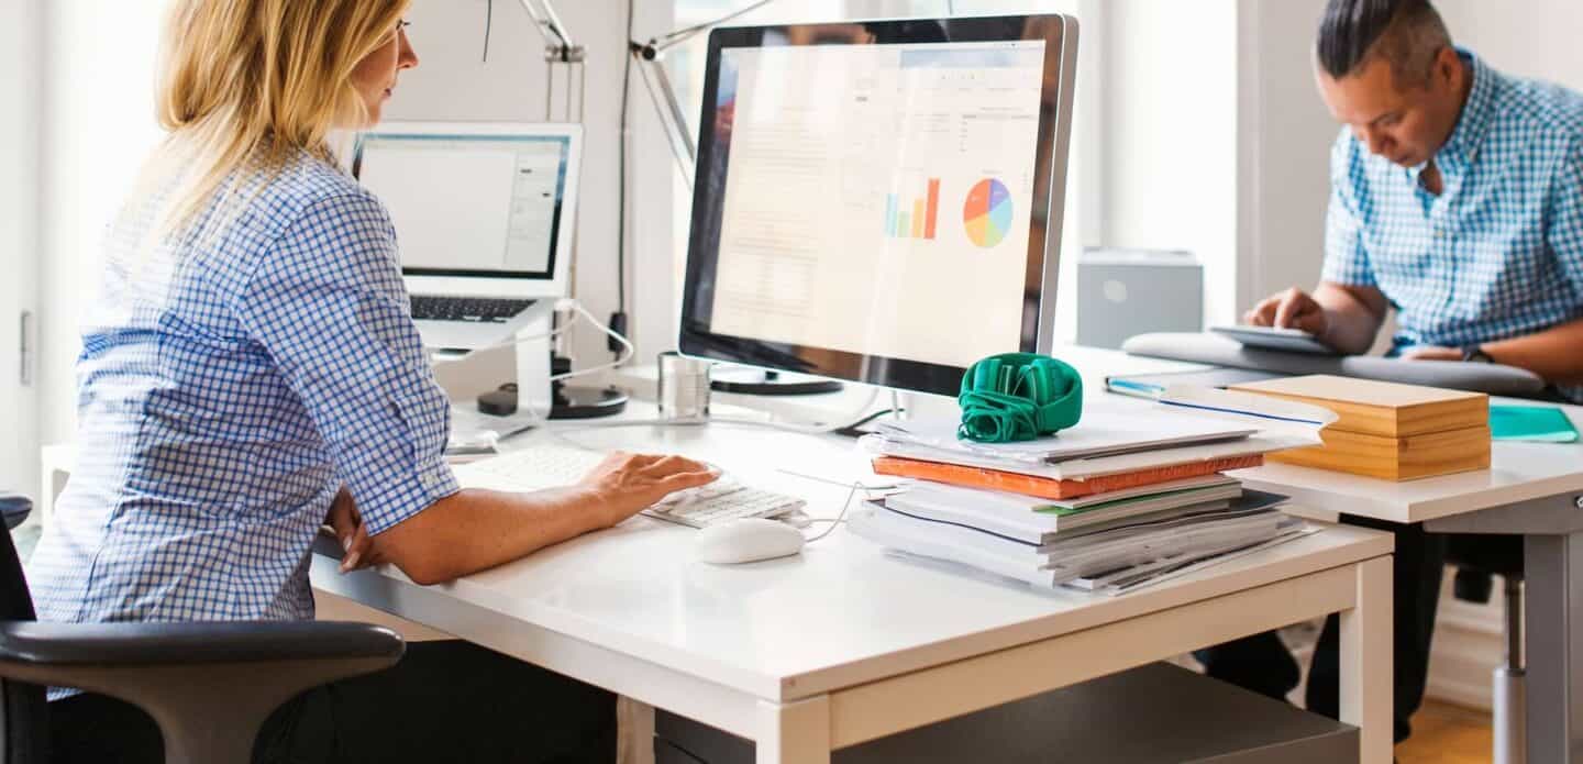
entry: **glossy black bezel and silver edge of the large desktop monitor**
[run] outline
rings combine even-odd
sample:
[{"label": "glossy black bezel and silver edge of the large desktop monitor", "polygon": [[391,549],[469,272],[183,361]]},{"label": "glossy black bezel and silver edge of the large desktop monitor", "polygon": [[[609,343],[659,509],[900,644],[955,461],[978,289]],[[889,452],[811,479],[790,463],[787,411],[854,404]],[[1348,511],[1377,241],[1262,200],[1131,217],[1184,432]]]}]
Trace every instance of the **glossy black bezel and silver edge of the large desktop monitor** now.
[{"label": "glossy black bezel and silver edge of the large desktop monitor", "polygon": [[[1037,22],[1037,24],[1035,24]],[[831,41],[837,32],[863,25],[872,32],[871,43]],[[828,35],[820,35],[828,30]],[[765,47],[790,44],[788,38],[814,40],[812,44],[915,44],[942,43],[923,38],[921,32],[945,35],[943,43],[1000,43],[1043,40],[1045,79],[1038,119],[1038,141],[1034,155],[1034,215],[1029,218],[1027,278],[1023,285],[1023,326],[1016,348],[1005,353],[1048,353],[1054,345],[1054,296],[1059,272],[1061,228],[1065,210],[1065,179],[1072,130],[1072,90],[1076,70],[1078,24],[1065,14],[1002,14],[951,19],[888,19],[839,24],[776,24],[728,27],[709,33],[704,68],[703,114],[698,130],[698,165],[693,182],[692,223],[684,275],[678,346],[684,354],[768,370],[796,372],[863,384],[955,395],[961,386],[962,367],[926,361],[850,353],[776,343],[752,337],[714,332],[704,305],[704,283],[712,283],[719,258],[719,225],[723,198],[711,198],[711,177],[723,183],[725,166],[716,168],[716,101],[722,52],[730,47]],[[1016,36],[1007,30],[1018,30]],[[1032,32],[1031,32],[1032,30]],[[795,32],[795,35],[793,35]],[[1037,33],[1035,33],[1037,32]],[[777,33],[773,35],[771,33]],[[722,165],[723,165],[723,158]],[[1037,236],[1043,215],[1045,236]],[[712,229],[708,229],[712,226]],[[708,229],[708,231],[706,231]],[[712,294],[712,293],[711,293]],[[942,307],[943,308],[943,307]],[[964,331],[972,313],[964,310]]]}]

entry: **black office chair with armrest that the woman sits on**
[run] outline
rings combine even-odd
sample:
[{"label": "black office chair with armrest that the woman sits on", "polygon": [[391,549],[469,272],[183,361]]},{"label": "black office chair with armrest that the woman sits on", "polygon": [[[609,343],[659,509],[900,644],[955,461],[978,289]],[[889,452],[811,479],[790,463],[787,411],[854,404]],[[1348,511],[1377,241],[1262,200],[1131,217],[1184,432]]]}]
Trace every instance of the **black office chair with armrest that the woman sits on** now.
[{"label": "black office chair with armrest that the woman sits on", "polygon": [[[16,528],[32,511],[0,497]],[[9,533],[0,533],[0,764],[49,761],[44,686],[120,698],[154,717],[171,764],[252,761],[264,720],[312,686],[400,660],[367,623],[40,623]]]}]

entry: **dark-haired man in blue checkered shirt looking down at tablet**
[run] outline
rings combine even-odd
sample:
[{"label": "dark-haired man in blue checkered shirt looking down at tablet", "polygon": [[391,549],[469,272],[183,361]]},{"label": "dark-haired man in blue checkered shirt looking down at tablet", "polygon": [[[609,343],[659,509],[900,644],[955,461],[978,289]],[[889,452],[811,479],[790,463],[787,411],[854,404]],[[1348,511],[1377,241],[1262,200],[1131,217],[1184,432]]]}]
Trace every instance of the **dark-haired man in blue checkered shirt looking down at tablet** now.
[{"label": "dark-haired man in blue checkered shirt looking down at tablet", "polygon": [[[1244,321],[1365,353],[1390,307],[1406,359],[1528,369],[1583,402],[1583,95],[1505,76],[1428,0],[1331,0],[1319,89],[1346,125],[1331,152],[1323,277]],[[1363,524],[1363,522],[1360,522]],[[1444,539],[1396,533],[1396,739],[1423,696]],[[1205,652],[1209,672],[1273,696],[1296,685],[1274,634]],[[1336,618],[1320,636],[1309,709],[1336,713]]]}]

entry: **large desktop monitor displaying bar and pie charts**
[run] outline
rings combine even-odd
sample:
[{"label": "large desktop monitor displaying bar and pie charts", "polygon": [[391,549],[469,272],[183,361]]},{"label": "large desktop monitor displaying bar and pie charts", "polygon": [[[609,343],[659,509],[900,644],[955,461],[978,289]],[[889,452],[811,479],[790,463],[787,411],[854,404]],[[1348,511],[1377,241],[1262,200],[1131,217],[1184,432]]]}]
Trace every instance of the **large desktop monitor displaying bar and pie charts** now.
[{"label": "large desktop monitor displaying bar and pie charts", "polygon": [[1053,345],[1069,16],[709,35],[682,353],[955,395]]}]

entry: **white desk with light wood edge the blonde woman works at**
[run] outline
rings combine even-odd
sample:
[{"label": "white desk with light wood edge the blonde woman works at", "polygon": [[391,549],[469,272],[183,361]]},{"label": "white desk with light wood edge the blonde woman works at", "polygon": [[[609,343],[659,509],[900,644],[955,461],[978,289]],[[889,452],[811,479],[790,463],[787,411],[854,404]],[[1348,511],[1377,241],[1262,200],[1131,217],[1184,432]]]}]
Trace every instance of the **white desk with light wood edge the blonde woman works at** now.
[{"label": "white desk with light wood edge the blonde woman works at", "polygon": [[[633,405],[628,416],[652,416]],[[556,437],[545,432],[532,438]],[[793,490],[829,517],[847,489],[769,465],[852,475],[852,441],[736,425],[564,433],[594,448],[674,451]],[[46,449],[47,484],[71,449]],[[635,517],[435,587],[337,571],[315,588],[749,737],[760,762],[837,748],[1339,612],[1341,718],[1361,761],[1391,756],[1388,535],[1336,527],[1119,598],[1035,592],[920,566],[837,530],[801,557],[697,563],[690,528]],[[652,729],[652,717],[647,724]]]}]

